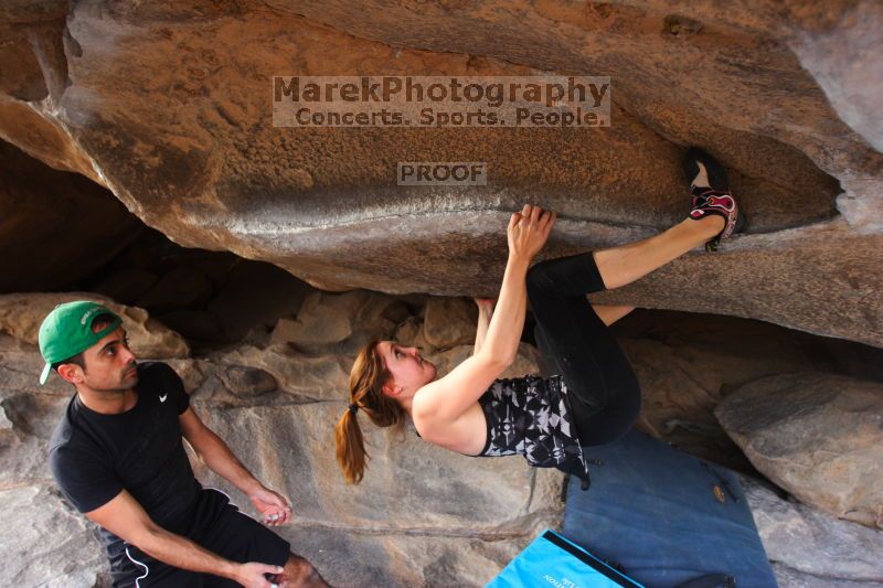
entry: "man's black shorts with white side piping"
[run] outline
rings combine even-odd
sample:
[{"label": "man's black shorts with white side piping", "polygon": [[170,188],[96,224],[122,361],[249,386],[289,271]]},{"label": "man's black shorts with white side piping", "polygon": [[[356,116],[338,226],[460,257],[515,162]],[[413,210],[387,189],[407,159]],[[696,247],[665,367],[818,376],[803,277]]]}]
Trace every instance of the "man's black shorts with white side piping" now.
[{"label": "man's black shorts with white side piping", "polygon": [[[230,499],[214,489],[202,490],[196,502],[196,523],[187,537],[226,559],[245,564],[258,562],[284,566],[290,546],[287,541],[230,504]],[[134,545],[126,547],[131,568],[115,574],[117,588],[234,588],[240,585],[226,578],[174,568],[153,559]]]}]

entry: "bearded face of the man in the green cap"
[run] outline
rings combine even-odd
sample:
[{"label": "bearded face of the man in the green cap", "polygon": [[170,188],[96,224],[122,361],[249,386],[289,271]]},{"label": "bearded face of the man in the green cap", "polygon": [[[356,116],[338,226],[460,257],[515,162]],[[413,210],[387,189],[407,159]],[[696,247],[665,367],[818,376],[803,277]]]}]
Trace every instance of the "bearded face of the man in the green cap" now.
[{"label": "bearded face of the man in the green cap", "polygon": [[123,327],[84,351],[83,360],[86,370],[76,371],[75,383],[96,392],[125,392],[138,384],[135,354]]}]

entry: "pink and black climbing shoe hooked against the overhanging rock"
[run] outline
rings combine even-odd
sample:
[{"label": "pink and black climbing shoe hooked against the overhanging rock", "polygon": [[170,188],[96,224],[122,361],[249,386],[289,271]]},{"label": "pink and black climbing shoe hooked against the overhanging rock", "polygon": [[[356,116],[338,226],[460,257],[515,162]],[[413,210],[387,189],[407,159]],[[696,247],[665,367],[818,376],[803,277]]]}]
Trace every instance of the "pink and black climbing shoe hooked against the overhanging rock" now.
[{"label": "pink and black climbing shoe hooked against the overhanging rock", "polygon": [[[699,162],[705,168],[708,184],[702,181]],[[726,170],[709,153],[698,147],[691,147],[683,158],[683,172],[687,181],[690,182],[690,193],[692,194],[690,218],[699,221],[710,214],[716,214],[726,221],[724,229],[705,244],[706,252],[714,252],[721,239],[743,229],[745,215],[740,211],[736,199],[730,193]]]}]

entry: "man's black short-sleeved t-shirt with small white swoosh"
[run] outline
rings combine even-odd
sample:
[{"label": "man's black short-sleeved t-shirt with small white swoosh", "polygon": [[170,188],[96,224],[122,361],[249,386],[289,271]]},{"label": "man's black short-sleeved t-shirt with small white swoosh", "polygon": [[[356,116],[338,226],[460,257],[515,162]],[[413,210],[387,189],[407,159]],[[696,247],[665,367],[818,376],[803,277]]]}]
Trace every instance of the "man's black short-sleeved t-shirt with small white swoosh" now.
[{"label": "man's black short-sleeved t-shirt with small white swoosh", "polygon": [[[50,469],[79,512],[94,511],[125,489],[153,522],[183,533],[202,488],[178,423],[190,398],[174,370],[159,362],[138,365],[136,392],[135,406],[118,415],[96,413],[74,395],[52,435]],[[123,539],[104,528],[102,539],[111,569],[125,565]]]}]

